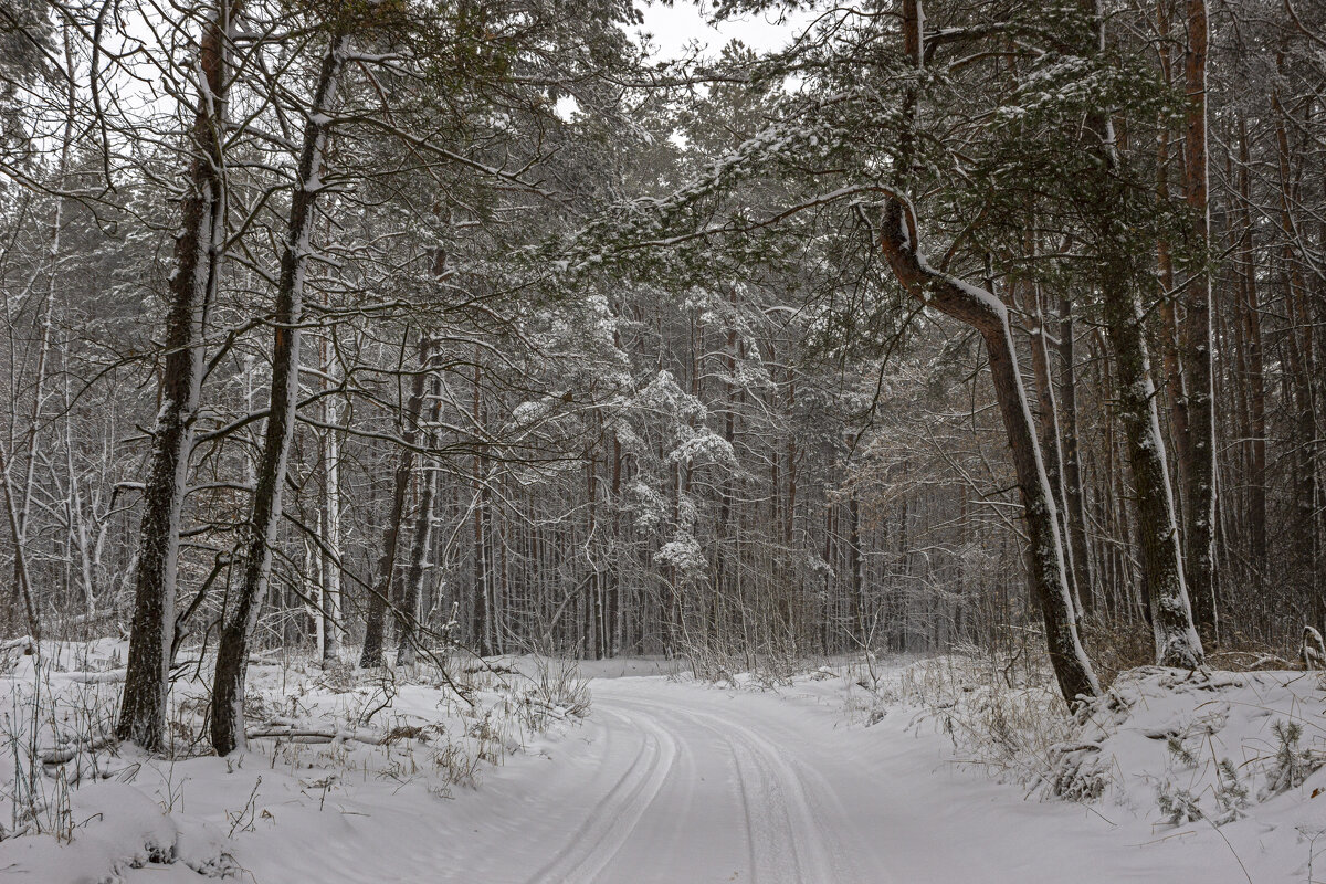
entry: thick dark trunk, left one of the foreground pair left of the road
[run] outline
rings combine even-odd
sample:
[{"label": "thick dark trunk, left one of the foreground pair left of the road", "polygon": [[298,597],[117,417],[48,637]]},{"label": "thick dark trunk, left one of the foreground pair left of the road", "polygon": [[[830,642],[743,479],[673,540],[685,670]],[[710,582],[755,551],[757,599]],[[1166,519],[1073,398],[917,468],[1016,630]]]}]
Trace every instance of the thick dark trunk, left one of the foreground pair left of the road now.
[{"label": "thick dark trunk, left one of the foreground pair left of the road", "polygon": [[152,431],[151,461],[143,488],[138,567],[134,574],[134,619],[129,635],[125,693],[115,736],[156,751],[166,744],[166,696],[171,643],[175,637],[175,579],[179,521],[194,447],[194,416],[203,386],[203,330],[216,288],[225,227],[221,180],[221,130],[229,85],[229,27],[240,3],[223,4],[207,24],[199,45],[198,109],[190,133],[194,162],[175,237],[166,314],[166,358],[160,375],[160,408]]}]

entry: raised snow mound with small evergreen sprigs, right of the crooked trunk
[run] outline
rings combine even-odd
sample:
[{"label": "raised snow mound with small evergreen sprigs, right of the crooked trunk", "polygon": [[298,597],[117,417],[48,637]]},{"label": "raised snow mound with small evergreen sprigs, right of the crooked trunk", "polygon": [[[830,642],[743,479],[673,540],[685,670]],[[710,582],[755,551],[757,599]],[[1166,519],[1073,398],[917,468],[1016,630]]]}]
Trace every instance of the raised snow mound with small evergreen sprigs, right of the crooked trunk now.
[{"label": "raised snow mound with small evergreen sprigs, right of the crooked trunk", "polygon": [[1033,791],[1124,807],[1158,832],[1219,827],[1236,855],[1276,855],[1302,880],[1326,851],[1326,677],[1124,672]]}]

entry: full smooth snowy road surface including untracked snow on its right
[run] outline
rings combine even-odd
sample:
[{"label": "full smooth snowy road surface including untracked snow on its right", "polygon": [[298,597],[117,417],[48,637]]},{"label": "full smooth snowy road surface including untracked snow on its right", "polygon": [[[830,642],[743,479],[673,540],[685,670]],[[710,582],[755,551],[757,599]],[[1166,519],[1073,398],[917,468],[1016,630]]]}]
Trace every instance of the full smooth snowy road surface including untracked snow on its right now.
[{"label": "full smooth snowy road surface including untracked snow on its right", "polygon": [[1223,846],[1193,850],[1144,826],[1134,836],[1085,807],[1022,801],[955,769],[944,740],[907,729],[907,712],[849,726],[815,688],[594,680],[593,716],[550,750],[556,763],[499,773],[467,798],[501,810],[468,816],[448,851],[453,880],[1246,880]]}]

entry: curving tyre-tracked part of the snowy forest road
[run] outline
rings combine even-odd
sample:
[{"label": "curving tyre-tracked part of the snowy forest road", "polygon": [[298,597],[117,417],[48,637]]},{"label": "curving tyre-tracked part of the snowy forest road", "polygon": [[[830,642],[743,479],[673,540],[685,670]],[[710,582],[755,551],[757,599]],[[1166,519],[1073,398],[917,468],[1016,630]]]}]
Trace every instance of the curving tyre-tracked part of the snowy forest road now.
[{"label": "curving tyre-tracked part of the snowy forest road", "polygon": [[[861,770],[815,750],[822,728],[801,732],[777,697],[735,704],[731,693],[662,679],[595,680],[593,691],[590,720],[564,740],[556,763],[509,795],[521,819],[477,827],[460,846],[464,880],[891,880],[871,857],[876,839],[859,801],[841,799],[859,791]],[[772,718],[761,721],[760,709]]]}]

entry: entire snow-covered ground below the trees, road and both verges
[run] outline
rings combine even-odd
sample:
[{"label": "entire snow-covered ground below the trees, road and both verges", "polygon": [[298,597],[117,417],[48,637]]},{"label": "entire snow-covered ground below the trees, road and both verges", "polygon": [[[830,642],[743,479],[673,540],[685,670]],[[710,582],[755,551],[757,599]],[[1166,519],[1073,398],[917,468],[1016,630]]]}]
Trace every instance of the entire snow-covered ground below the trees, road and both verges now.
[{"label": "entire snow-covered ground below the trees, road and both verges", "polygon": [[[82,705],[66,710],[114,687],[78,663],[42,688],[77,685]],[[1326,881],[1317,673],[1143,669],[1078,724],[1046,725],[1038,688],[1008,673],[994,688],[952,659],[717,683],[658,661],[586,663],[583,718],[570,671],[529,660],[512,668],[530,677],[475,676],[473,706],[419,680],[328,685],[298,665],[255,668],[253,693],[288,704],[263,710],[269,730],[341,722],[337,736],[257,738],[243,762],[106,749],[77,770],[46,765],[28,779],[40,791],[28,834],[12,836],[21,812],[0,820],[0,877]],[[23,798],[23,689],[40,681],[23,663],[8,676],[7,810]],[[386,693],[390,709],[374,712]],[[52,745],[69,746],[50,725]]]}]

